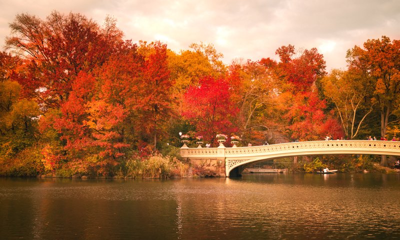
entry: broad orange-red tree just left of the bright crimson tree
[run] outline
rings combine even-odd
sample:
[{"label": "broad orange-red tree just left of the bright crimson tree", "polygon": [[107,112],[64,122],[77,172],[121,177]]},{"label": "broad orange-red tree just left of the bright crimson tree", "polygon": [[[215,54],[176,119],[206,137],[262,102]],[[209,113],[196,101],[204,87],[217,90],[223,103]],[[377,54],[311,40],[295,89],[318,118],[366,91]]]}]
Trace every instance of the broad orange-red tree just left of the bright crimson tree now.
[{"label": "broad orange-red tree just left of the bright crimson tree", "polygon": [[[166,67],[166,45],[160,42],[139,47],[127,43],[98,69],[98,92],[88,103],[90,128],[97,141],[135,149],[166,138],[166,122],[171,115],[172,81]],[[115,148],[116,149],[116,148]]]}]

